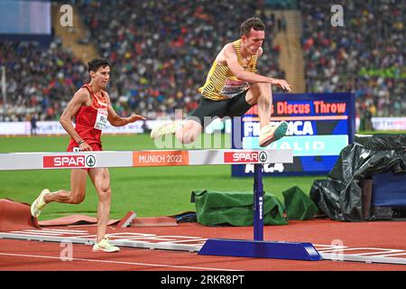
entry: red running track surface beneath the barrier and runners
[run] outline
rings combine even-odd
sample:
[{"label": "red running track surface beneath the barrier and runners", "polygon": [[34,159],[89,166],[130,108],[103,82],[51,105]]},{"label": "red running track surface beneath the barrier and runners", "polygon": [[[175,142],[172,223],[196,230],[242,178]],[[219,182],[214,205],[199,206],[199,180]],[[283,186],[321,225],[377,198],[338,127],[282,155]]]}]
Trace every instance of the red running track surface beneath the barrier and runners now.
[{"label": "red running track surface beneath the barrier and runners", "polygon": [[[68,227],[60,227],[69,229]],[[346,247],[406,250],[406,222],[338,222],[328,219],[290,221],[288,226],[265,226],[264,239]],[[96,227],[70,229],[96,232]],[[108,233],[135,232],[200,238],[252,239],[251,227],[204,227],[182,223],[175,227],[110,227]],[[1,271],[406,271],[405,265],[361,262],[294,261],[231,256],[199,256],[197,253],[122,247],[119,253],[93,253],[91,246],[73,244],[71,260],[64,261],[67,247],[60,243],[0,239]],[[64,251],[65,250],[65,251]],[[62,258],[61,258],[62,256]],[[400,256],[406,258],[406,256]]]}]

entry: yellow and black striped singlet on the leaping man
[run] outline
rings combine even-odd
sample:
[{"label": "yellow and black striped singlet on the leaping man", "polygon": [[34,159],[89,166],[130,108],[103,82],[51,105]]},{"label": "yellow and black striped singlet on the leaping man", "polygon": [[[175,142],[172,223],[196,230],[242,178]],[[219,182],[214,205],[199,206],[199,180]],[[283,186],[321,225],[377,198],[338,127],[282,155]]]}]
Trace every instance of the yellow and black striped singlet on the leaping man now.
[{"label": "yellow and black striped singlet on the leaping man", "polygon": [[[245,65],[241,57],[241,40],[233,42],[238,63],[245,71],[256,72],[257,54],[254,54],[250,61]],[[208,71],[208,78],[203,87],[198,89],[203,98],[211,100],[224,100],[234,98],[236,95],[250,88],[247,81],[237,79],[226,65],[213,62]]]}]

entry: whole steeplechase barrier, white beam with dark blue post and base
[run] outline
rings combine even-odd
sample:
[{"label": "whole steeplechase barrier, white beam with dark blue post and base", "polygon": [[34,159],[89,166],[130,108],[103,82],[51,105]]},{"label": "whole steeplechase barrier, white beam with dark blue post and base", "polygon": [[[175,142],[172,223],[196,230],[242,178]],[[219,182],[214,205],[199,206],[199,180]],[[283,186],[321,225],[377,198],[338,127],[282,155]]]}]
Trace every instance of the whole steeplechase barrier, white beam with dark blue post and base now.
[{"label": "whole steeplechase barrier, white beam with dark blue post and base", "polygon": [[[0,171],[235,163],[254,163],[254,240],[208,239],[198,254],[321,260],[311,243],[263,241],[263,163],[293,163],[292,150],[213,149],[0,154]],[[0,234],[0,238],[7,238],[6,236],[7,234]]]}]

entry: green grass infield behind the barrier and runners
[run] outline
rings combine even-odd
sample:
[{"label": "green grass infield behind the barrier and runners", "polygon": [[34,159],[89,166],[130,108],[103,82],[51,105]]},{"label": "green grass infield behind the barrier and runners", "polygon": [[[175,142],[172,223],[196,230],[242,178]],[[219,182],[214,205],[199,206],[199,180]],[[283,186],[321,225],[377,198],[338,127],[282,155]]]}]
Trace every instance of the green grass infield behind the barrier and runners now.
[{"label": "green grass infield behind the barrier and runners", "polygon": [[[108,151],[157,149],[149,135],[104,135],[103,147]],[[0,153],[61,152],[65,151],[67,136],[0,137]],[[205,135],[194,147],[212,144],[213,148],[229,148],[228,135]],[[179,143],[176,148],[181,149]],[[205,147],[207,147],[205,145]],[[169,149],[169,148],[168,148]],[[121,219],[129,210],[139,217],[171,216],[196,210],[190,202],[191,191],[253,191],[252,178],[232,178],[230,165],[202,165],[182,167],[110,168],[112,207],[111,219]],[[297,185],[309,193],[315,179],[326,176],[266,176],[263,186],[283,200],[281,192]],[[0,199],[31,203],[44,188],[51,191],[69,190],[69,170],[32,170],[0,172]],[[88,179],[86,199],[78,205],[51,203],[40,219],[54,219],[69,214],[95,217],[97,193]]]}]

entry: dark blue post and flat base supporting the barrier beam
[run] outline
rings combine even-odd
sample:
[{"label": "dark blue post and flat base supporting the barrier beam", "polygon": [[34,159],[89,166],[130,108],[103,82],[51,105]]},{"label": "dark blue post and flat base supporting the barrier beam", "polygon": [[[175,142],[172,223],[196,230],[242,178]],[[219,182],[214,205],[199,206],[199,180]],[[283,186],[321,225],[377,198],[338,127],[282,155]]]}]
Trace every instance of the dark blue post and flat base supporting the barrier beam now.
[{"label": "dark blue post and flat base supporting the barrier beam", "polygon": [[263,164],[254,164],[254,240],[208,239],[198,255],[245,256],[318,261],[311,243],[263,241]]}]

